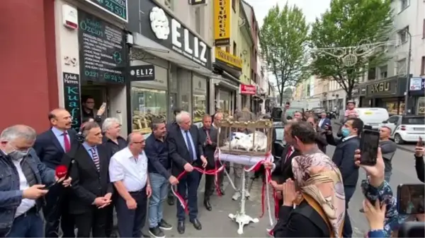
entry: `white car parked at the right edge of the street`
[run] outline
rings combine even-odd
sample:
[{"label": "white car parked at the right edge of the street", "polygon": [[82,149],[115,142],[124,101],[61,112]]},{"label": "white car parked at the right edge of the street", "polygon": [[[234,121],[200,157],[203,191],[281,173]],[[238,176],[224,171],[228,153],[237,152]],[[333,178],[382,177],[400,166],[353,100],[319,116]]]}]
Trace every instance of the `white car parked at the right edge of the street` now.
[{"label": "white car parked at the right edge of the street", "polygon": [[387,126],[391,129],[391,137],[395,143],[419,141],[425,138],[425,115],[395,115],[382,121],[379,127]]}]

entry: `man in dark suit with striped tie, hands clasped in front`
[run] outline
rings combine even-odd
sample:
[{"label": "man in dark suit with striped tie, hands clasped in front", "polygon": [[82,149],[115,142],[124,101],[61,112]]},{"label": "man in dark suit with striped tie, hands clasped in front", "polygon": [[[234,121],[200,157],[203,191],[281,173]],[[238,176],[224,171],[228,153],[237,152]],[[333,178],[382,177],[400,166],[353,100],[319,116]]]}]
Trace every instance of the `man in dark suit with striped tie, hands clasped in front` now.
[{"label": "man in dark suit with striped tie, hands clasped in front", "polygon": [[84,143],[69,153],[74,160],[71,167],[72,194],[69,210],[74,214],[78,238],[106,238],[107,206],[111,206],[113,185],[109,182],[109,158],[101,145],[102,131],[94,121],[81,127]]}]

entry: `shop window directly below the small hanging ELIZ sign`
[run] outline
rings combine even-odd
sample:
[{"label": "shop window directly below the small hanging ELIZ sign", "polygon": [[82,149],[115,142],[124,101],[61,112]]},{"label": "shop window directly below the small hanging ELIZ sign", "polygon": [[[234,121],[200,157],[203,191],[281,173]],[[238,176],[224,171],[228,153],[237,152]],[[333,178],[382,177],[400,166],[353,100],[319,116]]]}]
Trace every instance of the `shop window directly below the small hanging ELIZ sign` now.
[{"label": "shop window directly below the small hanging ELIZ sign", "polygon": [[132,82],[131,109],[132,131],[151,133],[150,124],[152,119],[159,118],[166,121],[166,91],[154,90],[135,86],[138,82]]}]

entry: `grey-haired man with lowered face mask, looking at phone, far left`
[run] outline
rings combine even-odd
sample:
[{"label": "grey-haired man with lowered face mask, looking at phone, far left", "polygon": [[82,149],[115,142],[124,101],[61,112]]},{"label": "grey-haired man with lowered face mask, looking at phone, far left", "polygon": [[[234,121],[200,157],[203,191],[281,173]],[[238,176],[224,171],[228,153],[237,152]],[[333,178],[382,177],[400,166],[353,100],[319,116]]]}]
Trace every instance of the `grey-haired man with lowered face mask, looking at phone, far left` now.
[{"label": "grey-haired man with lowered face mask, looking at phone, far left", "polygon": [[[30,126],[11,126],[0,134],[0,237],[42,238],[43,221],[39,211],[45,185],[57,178],[31,148],[35,130]],[[69,186],[71,179],[63,182]]]}]

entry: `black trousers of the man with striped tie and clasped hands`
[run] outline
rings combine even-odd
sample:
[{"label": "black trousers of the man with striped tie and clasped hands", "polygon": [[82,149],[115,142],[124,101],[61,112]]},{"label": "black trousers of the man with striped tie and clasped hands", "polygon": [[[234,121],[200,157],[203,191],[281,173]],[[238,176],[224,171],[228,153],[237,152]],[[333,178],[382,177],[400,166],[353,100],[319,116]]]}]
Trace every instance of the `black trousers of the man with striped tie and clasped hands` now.
[{"label": "black trousers of the man with striped tie and clasped hands", "polygon": [[[110,205],[111,206],[111,205]],[[96,206],[86,213],[75,215],[75,226],[78,229],[77,238],[106,238],[106,208],[98,209]]]}]

